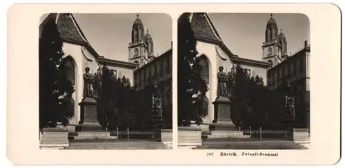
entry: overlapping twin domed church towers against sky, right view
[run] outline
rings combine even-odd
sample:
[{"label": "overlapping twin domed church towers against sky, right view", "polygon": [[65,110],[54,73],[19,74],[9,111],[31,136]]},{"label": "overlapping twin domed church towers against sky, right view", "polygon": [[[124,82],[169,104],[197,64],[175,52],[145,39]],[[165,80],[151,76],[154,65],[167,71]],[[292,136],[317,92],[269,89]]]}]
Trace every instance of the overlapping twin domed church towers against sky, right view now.
[{"label": "overlapping twin domed church towers against sky, right view", "polygon": [[[284,48],[282,48],[284,45]],[[282,51],[284,49],[284,52]],[[270,63],[271,67],[282,62],[282,56],[286,55],[286,39],[285,35],[281,32],[278,35],[278,26],[270,14],[270,19],[266,25],[265,42],[262,43],[262,61]],[[282,54],[284,53],[284,54]]]}]

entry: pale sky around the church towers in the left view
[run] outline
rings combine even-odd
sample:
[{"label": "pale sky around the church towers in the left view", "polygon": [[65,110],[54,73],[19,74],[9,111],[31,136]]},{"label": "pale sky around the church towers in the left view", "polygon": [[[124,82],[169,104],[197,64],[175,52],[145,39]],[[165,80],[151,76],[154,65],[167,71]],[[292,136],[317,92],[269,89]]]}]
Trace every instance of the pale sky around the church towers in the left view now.
[{"label": "pale sky around the church towers in the left view", "polygon": [[[47,14],[41,17],[41,21]],[[128,43],[137,14],[73,14],[92,48],[107,59],[128,61]],[[172,19],[168,14],[139,14],[160,54],[172,41]]]}]

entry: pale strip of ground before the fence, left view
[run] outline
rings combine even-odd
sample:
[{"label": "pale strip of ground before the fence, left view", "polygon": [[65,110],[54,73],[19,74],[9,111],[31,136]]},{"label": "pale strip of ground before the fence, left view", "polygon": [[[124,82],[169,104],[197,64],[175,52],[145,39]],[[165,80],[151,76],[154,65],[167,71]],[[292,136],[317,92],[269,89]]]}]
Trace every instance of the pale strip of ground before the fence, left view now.
[{"label": "pale strip of ground before the fence, left view", "polygon": [[170,149],[161,142],[147,142],[147,141],[124,141],[124,142],[101,142],[101,143],[70,143],[69,147],[65,147],[64,149],[120,149],[120,150],[128,150],[128,149]]}]

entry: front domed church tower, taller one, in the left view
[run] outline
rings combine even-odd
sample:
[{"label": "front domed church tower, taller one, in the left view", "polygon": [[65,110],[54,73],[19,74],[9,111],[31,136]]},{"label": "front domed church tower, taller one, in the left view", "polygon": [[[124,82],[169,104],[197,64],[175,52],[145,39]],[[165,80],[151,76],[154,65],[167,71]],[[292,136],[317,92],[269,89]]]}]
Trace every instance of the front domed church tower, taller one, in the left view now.
[{"label": "front domed church tower, taller one, in the left view", "polygon": [[148,46],[144,33],[144,25],[139,19],[139,14],[137,14],[137,19],[135,19],[132,26],[132,41],[128,46],[128,61],[135,63],[137,67],[141,67],[148,62]]}]

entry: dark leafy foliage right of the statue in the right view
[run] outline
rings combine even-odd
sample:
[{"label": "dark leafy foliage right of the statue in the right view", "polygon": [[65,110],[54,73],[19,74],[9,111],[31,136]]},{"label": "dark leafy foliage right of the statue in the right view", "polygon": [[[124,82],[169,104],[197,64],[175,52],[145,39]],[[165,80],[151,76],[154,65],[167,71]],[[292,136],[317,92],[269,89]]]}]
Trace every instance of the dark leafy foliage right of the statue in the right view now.
[{"label": "dark leafy foliage right of the statue in the right view", "polygon": [[288,129],[293,108],[285,103],[286,90],[268,90],[259,76],[250,78],[240,65],[228,73],[231,119],[243,129]]}]

